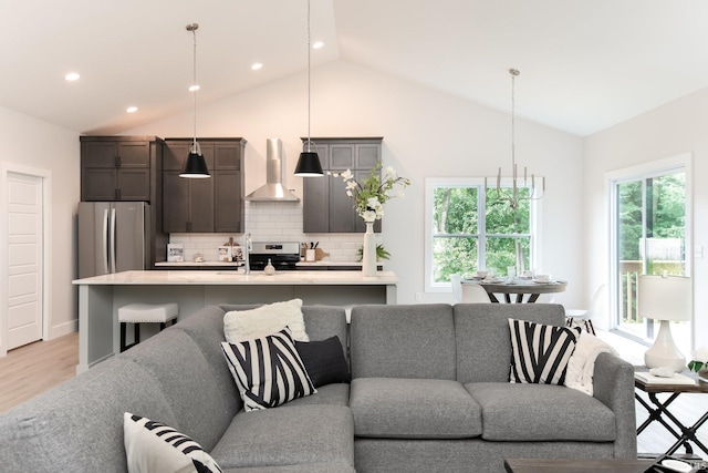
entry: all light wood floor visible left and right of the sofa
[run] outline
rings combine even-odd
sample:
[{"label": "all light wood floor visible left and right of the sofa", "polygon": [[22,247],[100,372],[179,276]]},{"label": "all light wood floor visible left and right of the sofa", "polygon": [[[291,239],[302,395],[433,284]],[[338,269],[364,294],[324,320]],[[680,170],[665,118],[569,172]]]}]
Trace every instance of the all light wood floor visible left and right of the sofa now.
[{"label": "all light wood floor visible left and right of the sofa", "polygon": [[[606,339],[615,348],[617,348],[616,343],[623,343],[613,340],[612,337],[601,338]],[[623,358],[637,364],[635,354],[621,350]],[[6,358],[0,358],[0,412],[73,378],[77,363],[77,332],[11,350]],[[646,411],[638,403],[636,405],[638,425],[646,419]],[[693,424],[700,415],[708,412],[708,394],[681,394],[671,404],[671,412],[684,423]],[[699,430],[698,439],[708,445],[708,423]],[[655,422],[638,436],[637,450],[641,453],[660,453],[665,452],[674,441],[674,438]],[[681,449],[677,453],[683,452]],[[695,453],[704,459],[708,456],[698,449],[695,449]]]}]

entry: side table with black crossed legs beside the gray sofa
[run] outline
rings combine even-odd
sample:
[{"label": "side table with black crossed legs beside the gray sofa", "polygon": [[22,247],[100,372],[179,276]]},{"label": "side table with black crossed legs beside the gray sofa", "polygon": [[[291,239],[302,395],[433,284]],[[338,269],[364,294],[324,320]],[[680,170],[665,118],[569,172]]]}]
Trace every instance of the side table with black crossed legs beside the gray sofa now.
[{"label": "side table with black crossed legs beside the gray sofa", "polygon": [[[635,367],[635,371],[646,371],[646,368]],[[687,374],[687,372],[684,372],[684,374]],[[704,413],[693,425],[686,426],[670,412],[669,409],[671,402],[674,402],[676,398],[684,392],[708,393],[708,383],[698,380],[694,373],[688,376],[690,378],[695,378],[693,384],[648,383],[636,376],[634,377],[634,397],[648,412],[648,418],[637,428],[637,435],[639,435],[652,422],[659,422],[676,438],[676,443],[666,451],[667,455],[676,453],[681,445],[686,449],[687,454],[693,454],[694,450],[689,441],[694,442],[696,446],[708,455],[708,448],[706,448],[706,445],[696,438],[698,429],[708,421],[708,412]],[[639,395],[638,391],[646,392],[653,405],[646,402]],[[669,395],[668,398],[660,400],[657,397],[658,393],[667,393]]]}]

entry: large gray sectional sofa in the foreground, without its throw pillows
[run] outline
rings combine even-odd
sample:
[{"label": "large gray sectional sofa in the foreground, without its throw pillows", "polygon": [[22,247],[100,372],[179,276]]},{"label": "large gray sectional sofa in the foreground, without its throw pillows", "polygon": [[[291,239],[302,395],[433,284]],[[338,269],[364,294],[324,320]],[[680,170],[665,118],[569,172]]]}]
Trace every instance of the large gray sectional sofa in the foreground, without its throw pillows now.
[{"label": "large gray sectional sofa in the foreground, without its throw pillows", "polygon": [[[252,307],[252,306],[249,306]],[[555,305],[303,307],[351,353],[351,385],[244,412],[214,306],[0,414],[1,471],[125,472],[123,413],[199,442],[225,472],[503,472],[504,457],[635,457],[632,367],[603,353],[594,395],[509,383],[508,318]],[[346,342],[348,340],[348,343]],[[347,351],[348,350],[348,351]]]}]

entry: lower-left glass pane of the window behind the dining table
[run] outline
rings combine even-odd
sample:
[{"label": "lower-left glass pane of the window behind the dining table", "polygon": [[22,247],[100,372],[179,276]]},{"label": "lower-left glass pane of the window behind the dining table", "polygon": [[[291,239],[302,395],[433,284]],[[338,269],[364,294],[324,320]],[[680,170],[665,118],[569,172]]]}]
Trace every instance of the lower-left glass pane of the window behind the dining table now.
[{"label": "lower-left glass pane of the window behind the dining table", "polygon": [[477,238],[437,237],[433,240],[433,281],[449,282],[450,275],[477,271]]}]

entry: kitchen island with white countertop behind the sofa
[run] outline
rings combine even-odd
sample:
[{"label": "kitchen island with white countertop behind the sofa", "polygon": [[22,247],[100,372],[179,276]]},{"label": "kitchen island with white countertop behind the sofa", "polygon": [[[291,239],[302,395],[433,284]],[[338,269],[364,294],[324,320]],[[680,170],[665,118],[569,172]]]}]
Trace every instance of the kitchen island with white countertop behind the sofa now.
[{"label": "kitchen island with white countertop behind the sofa", "polygon": [[[179,317],[204,306],[266,304],[293,298],[304,305],[396,304],[392,271],[279,271],[273,276],[223,270],[124,271],[74,280],[79,286],[79,366],[83,372],[119,351],[118,308],[133,302],[179,305]],[[149,326],[148,326],[149,327]],[[145,338],[148,327],[140,330]]]}]

